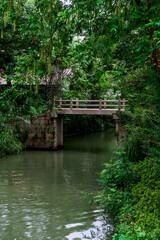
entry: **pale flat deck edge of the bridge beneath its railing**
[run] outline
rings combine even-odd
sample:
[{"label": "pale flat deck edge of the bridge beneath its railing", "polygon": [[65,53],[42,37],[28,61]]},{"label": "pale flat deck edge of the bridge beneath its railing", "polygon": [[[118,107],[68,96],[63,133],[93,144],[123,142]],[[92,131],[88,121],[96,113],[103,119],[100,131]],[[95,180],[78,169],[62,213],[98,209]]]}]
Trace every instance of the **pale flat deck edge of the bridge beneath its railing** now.
[{"label": "pale flat deck edge of the bridge beneath its railing", "polygon": [[[58,109],[57,109],[58,110]],[[112,115],[118,111],[118,109],[83,109],[83,108],[74,108],[66,109],[62,108],[58,110],[58,115],[74,114],[74,115]],[[122,110],[121,110],[122,111]]]}]

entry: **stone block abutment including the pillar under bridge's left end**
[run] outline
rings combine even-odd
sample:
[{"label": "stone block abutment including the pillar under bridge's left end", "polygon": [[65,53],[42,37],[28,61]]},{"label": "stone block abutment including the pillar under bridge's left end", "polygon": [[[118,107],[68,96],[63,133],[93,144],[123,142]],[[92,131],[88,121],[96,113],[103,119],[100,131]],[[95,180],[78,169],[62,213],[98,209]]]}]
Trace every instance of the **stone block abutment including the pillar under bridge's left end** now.
[{"label": "stone block abutment including the pillar under bridge's left end", "polygon": [[10,121],[29,149],[57,150],[63,147],[63,118],[50,111]]}]

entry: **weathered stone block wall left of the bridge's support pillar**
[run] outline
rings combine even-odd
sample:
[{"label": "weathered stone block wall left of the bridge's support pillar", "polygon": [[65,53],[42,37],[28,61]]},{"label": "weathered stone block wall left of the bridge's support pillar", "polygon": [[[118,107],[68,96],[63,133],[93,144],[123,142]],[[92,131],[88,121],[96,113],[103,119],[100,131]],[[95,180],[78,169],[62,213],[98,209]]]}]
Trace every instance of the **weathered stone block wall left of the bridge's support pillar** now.
[{"label": "weathered stone block wall left of the bridge's support pillar", "polygon": [[34,117],[22,117],[11,121],[20,133],[21,141],[30,149],[55,149],[55,117],[46,112]]}]

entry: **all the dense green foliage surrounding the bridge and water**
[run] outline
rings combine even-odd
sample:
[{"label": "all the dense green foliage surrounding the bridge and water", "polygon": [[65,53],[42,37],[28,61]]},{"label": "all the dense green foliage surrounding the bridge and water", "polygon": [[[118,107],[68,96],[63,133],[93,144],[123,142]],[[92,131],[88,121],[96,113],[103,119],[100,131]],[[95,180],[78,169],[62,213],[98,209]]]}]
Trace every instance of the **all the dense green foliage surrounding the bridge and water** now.
[{"label": "all the dense green foliage surrounding the bridge and water", "polygon": [[[119,116],[126,137],[101,173],[98,195],[115,216],[115,240],[160,236],[159,11],[159,0],[0,1],[0,64],[8,82],[0,87],[0,154],[21,149],[8,118],[44,112],[52,97],[129,100]],[[55,69],[72,75],[55,80]],[[76,121],[67,117],[66,131]],[[104,125],[78,121],[78,131]]]}]

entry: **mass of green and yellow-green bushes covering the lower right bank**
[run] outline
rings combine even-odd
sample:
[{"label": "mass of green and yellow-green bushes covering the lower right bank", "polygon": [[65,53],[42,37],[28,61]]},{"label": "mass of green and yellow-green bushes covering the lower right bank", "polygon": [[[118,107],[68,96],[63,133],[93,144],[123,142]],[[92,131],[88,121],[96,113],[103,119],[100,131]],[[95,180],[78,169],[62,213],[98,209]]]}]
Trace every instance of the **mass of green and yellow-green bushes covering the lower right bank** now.
[{"label": "mass of green and yellow-green bushes covering the lower right bank", "polygon": [[160,160],[131,162],[124,149],[116,152],[114,163],[105,164],[96,201],[115,218],[114,240],[159,240]]}]

